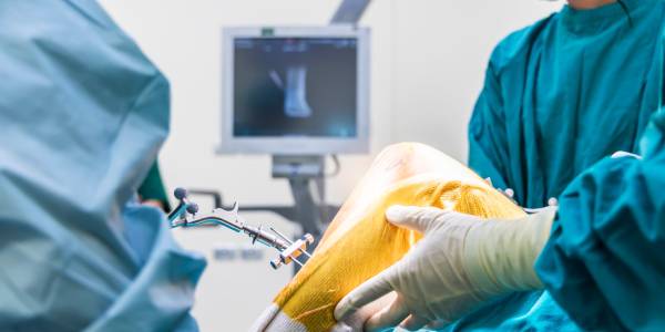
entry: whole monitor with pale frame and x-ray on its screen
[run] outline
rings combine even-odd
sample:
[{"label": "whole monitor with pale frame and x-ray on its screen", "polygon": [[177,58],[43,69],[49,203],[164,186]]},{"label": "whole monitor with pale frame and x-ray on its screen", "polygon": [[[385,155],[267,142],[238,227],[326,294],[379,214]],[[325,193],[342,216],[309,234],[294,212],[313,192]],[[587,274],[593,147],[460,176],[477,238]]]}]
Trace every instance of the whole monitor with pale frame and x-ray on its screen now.
[{"label": "whole monitor with pale frame and x-ray on its screen", "polygon": [[368,151],[369,30],[226,28],[222,153]]}]

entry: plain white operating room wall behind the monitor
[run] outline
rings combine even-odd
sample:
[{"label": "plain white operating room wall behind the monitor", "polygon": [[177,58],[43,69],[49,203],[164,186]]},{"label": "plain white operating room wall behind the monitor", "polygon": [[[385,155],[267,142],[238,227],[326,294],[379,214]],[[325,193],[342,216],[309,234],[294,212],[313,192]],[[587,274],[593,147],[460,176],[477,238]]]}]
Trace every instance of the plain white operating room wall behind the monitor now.
[{"label": "plain white operating room wall behind the monitor", "polygon": [[[166,186],[219,190],[241,205],[293,204],[285,180],[270,178],[269,156],[216,155],[219,137],[221,28],[324,24],[338,0],[102,0],[171,81],[171,136],[160,155]],[[341,156],[328,198],[341,203],[383,146],[419,141],[466,160],[467,123],[493,45],[511,30],[559,8],[536,0],[375,0],[362,24],[371,39],[371,153]],[[203,199],[203,198],[200,198]],[[209,203],[203,200],[202,209]],[[245,216],[287,234],[269,214]],[[208,258],[195,315],[203,331],[243,331],[290,270],[272,271],[270,251],[254,260],[215,260],[215,248],[247,241],[223,230],[176,231],[183,246]],[[224,329],[222,329],[224,328]]]}]

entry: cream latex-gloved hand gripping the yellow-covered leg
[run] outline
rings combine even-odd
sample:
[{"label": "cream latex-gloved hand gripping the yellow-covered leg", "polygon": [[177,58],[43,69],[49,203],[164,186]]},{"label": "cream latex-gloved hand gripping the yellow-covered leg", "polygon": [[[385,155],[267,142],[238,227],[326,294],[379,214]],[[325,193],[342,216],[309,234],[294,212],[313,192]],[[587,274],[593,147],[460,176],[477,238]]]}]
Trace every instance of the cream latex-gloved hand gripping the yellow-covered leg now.
[{"label": "cream latex-gloved hand gripping the yellow-covered leg", "polygon": [[381,295],[397,298],[365,329],[407,330],[451,322],[511,291],[542,288],[533,264],[550,236],[556,208],[521,219],[481,219],[437,208],[396,206],[388,221],[424,235],[397,263],[348,293],[335,309],[342,321]]}]

